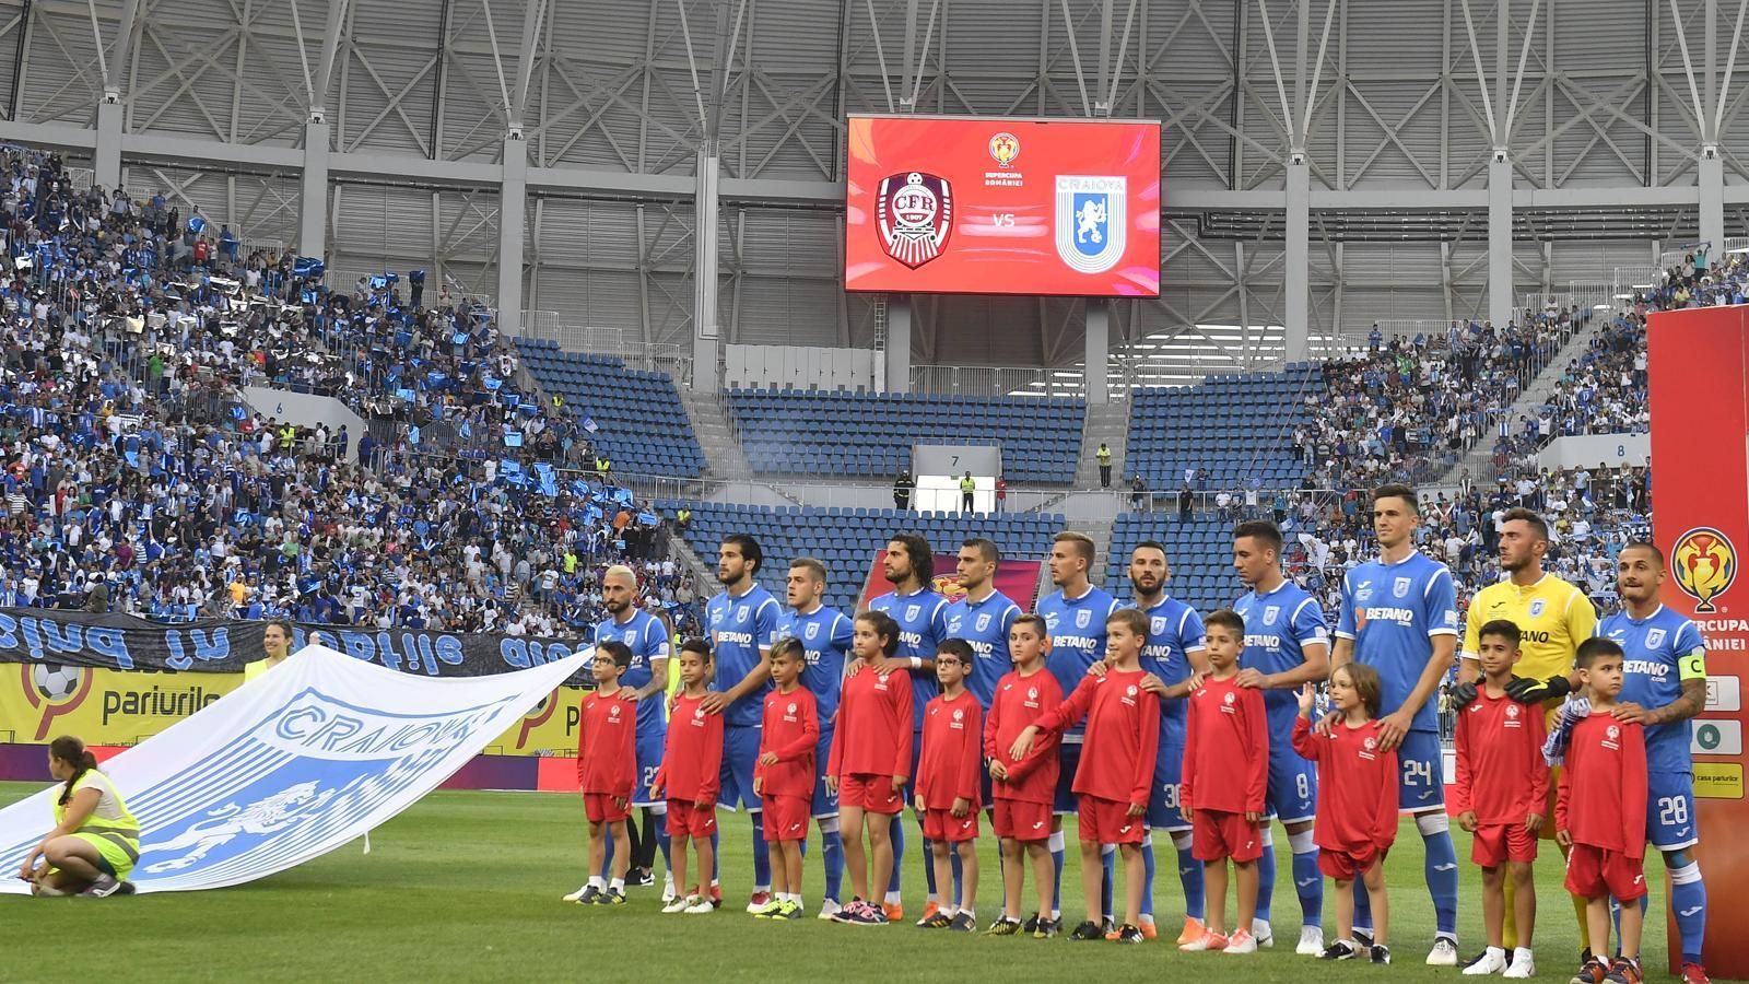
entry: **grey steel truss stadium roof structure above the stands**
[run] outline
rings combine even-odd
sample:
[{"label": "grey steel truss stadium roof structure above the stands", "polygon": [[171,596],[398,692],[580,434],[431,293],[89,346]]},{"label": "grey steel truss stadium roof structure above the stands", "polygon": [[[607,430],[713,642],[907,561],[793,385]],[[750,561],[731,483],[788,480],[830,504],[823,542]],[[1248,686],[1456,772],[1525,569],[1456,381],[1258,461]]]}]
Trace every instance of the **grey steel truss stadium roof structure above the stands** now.
[{"label": "grey steel truss stadium roof structure above the stands", "polygon": [[[0,138],[338,278],[430,268],[507,324],[710,357],[883,336],[840,289],[847,112],[1161,119],[1163,296],[1111,303],[1111,345],[1231,371],[1740,235],[1746,11],[0,0]],[[918,298],[909,361],[1067,369],[1084,306]]]}]

